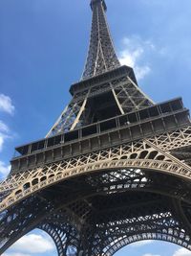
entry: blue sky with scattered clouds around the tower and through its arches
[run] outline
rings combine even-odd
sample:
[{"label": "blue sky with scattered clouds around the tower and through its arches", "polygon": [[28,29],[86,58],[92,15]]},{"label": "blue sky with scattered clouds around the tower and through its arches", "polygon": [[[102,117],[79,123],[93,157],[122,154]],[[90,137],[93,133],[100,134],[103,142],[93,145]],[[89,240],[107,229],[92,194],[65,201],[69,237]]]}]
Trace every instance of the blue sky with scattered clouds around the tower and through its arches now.
[{"label": "blue sky with scattered clouds around the tower and through its arches", "polygon": [[[181,96],[191,108],[191,1],[107,0],[107,5],[118,58],[135,68],[144,92],[155,102]],[[84,66],[91,14],[88,0],[0,1],[2,178],[10,168],[14,147],[44,137],[69,102],[69,87],[79,80]],[[29,238],[38,244],[51,243],[39,232],[22,243]],[[22,250],[22,243],[6,255],[53,255],[52,245],[40,244],[49,249],[32,252]],[[191,253],[171,244],[150,243],[117,253],[123,255]]]}]

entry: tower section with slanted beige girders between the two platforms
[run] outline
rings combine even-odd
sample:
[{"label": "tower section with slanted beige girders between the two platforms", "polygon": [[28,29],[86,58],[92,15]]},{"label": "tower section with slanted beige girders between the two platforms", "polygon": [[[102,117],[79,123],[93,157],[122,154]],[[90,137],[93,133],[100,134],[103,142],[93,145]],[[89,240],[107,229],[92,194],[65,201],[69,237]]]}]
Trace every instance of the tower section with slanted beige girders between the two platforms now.
[{"label": "tower section with slanted beige girders between the two platforms", "polygon": [[[142,92],[136,82],[129,76],[104,81],[88,90],[74,94],[73,100],[55,122],[47,137],[94,123],[96,109],[91,109],[90,105],[94,98],[97,99],[99,95],[104,93],[112,94],[113,97],[110,102],[116,105],[119,114],[154,105],[154,102]],[[105,98],[103,101],[107,100],[107,96]],[[96,121],[99,121],[99,119],[96,118]]]}]

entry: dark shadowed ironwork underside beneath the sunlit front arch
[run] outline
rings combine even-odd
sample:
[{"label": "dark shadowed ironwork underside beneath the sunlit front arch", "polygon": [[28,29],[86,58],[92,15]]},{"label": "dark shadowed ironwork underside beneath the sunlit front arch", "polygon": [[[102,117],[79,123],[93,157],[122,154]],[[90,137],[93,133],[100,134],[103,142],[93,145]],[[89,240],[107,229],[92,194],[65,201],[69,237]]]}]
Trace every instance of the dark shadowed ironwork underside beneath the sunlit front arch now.
[{"label": "dark shadowed ironwork underside beneath the sunlit front arch", "polygon": [[80,175],[4,211],[0,253],[36,227],[53,237],[59,256],[109,256],[147,238],[191,249],[190,203],[191,186],[178,176],[139,169]]}]

